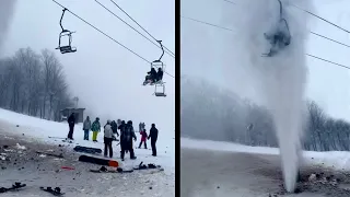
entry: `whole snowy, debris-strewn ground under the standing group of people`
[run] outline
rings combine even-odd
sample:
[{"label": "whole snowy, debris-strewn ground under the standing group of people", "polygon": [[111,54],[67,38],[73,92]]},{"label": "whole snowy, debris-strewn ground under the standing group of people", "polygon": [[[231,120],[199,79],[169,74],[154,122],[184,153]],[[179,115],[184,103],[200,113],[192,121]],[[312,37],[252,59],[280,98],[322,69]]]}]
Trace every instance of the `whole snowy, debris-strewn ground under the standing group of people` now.
[{"label": "whole snowy, debris-strewn ground under the standing group of people", "polygon": [[[104,125],[105,123],[101,123]],[[91,169],[100,165],[78,161],[81,153],[72,150],[75,144],[104,149],[103,131],[98,135],[98,142],[83,140],[82,125],[74,128],[74,142],[66,143],[61,139],[48,138],[49,136],[66,138],[67,123],[44,120],[5,109],[0,109],[0,153],[10,160],[0,159],[0,187],[10,186],[13,182],[26,183],[23,192],[1,194],[2,196],[50,196],[38,189],[39,186],[60,186],[66,196],[175,196],[175,138],[174,131],[160,130],[158,157],[152,157],[151,146],[148,150],[135,149],[137,160],[120,161],[120,146],[114,142],[114,160],[124,169],[129,169],[143,163],[162,165],[164,171],[135,171],[133,173],[91,173]],[[138,135],[138,134],[137,134]],[[91,139],[90,135],[90,139]],[[135,142],[135,147],[139,144]],[[20,150],[16,143],[25,146]],[[8,146],[9,148],[3,148]],[[10,151],[11,150],[11,151]],[[49,155],[42,157],[36,151],[51,151],[62,153],[65,159]],[[62,170],[61,166],[73,166],[73,171]]]}]

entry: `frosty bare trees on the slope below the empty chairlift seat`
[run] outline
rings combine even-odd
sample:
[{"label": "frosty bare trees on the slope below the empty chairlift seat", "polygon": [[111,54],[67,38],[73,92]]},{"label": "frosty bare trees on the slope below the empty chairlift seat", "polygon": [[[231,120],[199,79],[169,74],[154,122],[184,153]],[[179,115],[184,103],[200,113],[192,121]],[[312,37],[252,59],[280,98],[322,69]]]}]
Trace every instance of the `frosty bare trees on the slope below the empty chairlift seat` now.
[{"label": "frosty bare trees on the slope below the empty chairlift seat", "polygon": [[58,121],[73,106],[62,65],[48,49],[20,48],[0,59],[0,107]]}]

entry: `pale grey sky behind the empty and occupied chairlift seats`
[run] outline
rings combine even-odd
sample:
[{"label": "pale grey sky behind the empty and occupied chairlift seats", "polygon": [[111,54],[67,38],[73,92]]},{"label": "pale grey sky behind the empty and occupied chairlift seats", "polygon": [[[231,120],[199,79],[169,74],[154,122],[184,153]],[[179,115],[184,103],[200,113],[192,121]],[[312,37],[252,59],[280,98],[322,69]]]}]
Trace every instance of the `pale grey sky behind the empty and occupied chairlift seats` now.
[{"label": "pale grey sky behind the empty and occupied chairlift seats", "polygon": [[[75,14],[94,24],[149,61],[161,50],[100,7],[94,0],[58,0]],[[109,0],[100,0],[129,24],[129,20]],[[172,0],[116,1],[154,37],[175,53],[175,2]],[[60,33],[62,9],[50,0],[18,0],[14,18],[3,48],[11,56],[21,47],[55,49]],[[77,31],[73,46],[78,51],[61,55],[56,50],[67,73],[73,96],[88,114],[102,118],[125,118],[155,123],[160,130],[175,127],[175,79],[164,74],[167,97],[155,97],[153,86],[142,86],[150,65],[121,48],[82,21],[66,13],[63,27]],[[136,25],[133,25],[137,27]],[[167,72],[175,76],[175,59],[164,55]]]}]

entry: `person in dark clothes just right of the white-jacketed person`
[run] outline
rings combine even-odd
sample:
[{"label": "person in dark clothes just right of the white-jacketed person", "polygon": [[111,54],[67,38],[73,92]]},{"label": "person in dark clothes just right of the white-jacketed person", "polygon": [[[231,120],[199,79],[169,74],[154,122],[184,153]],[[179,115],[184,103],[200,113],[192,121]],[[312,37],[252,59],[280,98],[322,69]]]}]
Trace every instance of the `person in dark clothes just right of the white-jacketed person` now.
[{"label": "person in dark clothes just right of the white-jacketed person", "polygon": [[133,152],[133,148],[132,148],[132,139],[136,141],[137,137],[135,135],[135,130],[132,127],[132,121],[129,120],[124,128],[124,131],[120,131],[120,143],[121,143],[121,161],[124,161],[124,155],[126,150],[129,150],[130,152],[130,159],[135,160],[135,152]]}]

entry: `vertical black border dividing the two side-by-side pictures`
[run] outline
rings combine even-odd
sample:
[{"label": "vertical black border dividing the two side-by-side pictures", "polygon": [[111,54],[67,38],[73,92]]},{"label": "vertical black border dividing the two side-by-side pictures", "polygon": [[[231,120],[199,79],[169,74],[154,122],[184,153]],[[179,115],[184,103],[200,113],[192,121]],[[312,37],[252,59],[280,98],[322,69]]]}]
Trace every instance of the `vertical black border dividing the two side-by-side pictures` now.
[{"label": "vertical black border dividing the two side-by-side pictures", "polygon": [[175,196],[180,196],[180,0],[175,0]]}]

